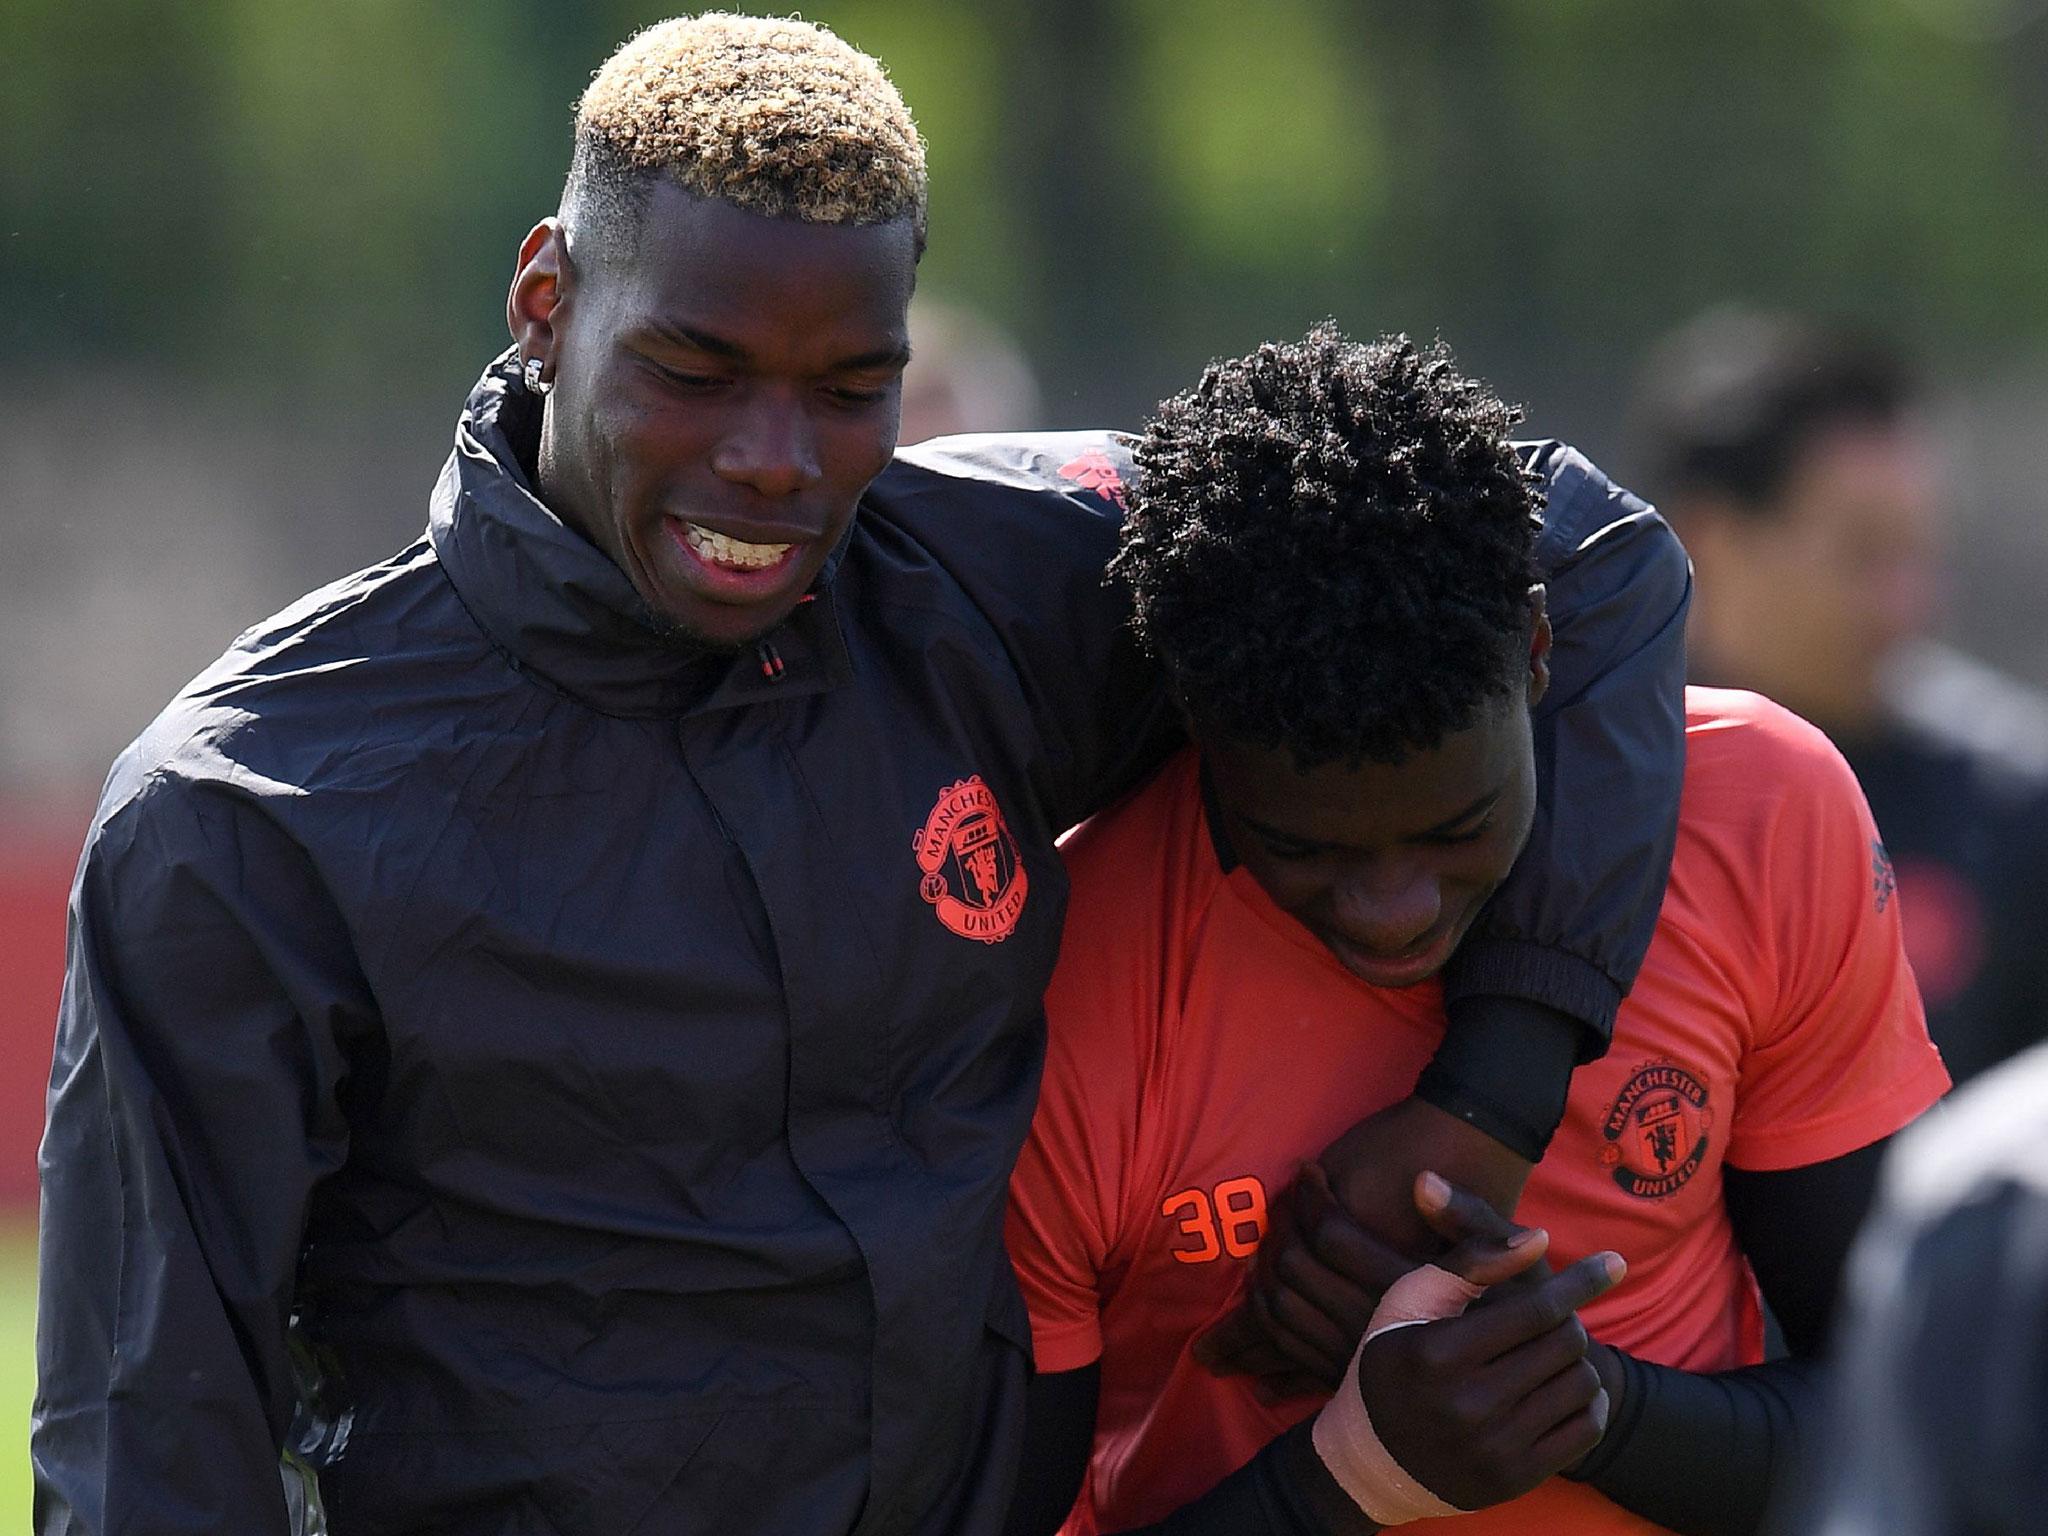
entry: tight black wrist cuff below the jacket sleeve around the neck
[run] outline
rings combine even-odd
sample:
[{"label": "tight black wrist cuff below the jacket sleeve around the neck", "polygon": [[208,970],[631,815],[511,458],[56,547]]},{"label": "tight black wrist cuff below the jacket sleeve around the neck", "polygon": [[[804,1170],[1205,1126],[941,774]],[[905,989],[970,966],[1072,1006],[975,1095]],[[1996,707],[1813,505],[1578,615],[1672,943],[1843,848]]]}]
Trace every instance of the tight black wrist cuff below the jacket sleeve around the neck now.
[{"label": "tight black wrist cuff below the jacket sleeve around the neck", "polygon": [[1446,999],[1450,1028],[1415,1081],[1421,1098],[1485,1130],[1524,1161],[1542,1161],[1571,1092],[1585,1030],[1522,997]]}]

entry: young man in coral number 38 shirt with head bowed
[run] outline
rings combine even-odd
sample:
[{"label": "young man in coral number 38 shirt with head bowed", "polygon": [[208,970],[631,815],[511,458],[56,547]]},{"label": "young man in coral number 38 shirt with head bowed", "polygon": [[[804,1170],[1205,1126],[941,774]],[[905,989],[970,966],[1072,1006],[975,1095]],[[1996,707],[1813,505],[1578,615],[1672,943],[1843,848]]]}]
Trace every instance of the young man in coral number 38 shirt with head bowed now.
[{"label": "young man in coral number 38 shirt with head bowed", "polygon": [[[1430,1059],[1434,977],[1536,819],[1546,449],[1513,449],[1513,420],[1442,354],[1319,328],[1214,365],[1139,449],[1118,569],[1196,745],[1067,846],[1012,1182],[1040,1370],[1014,1530],[1059,1526],[1075,1489],[1065,1530],[1116,1532],[1233,1477],[1319,1475],[1319,1401],[1219,1378],[1196,1341],[1241,1303],[1303,1163]],[[1946,1085],[1839,754],[1763,698],[1692,692],[1657,936],[1518,1212],[1554,1262],[1628,1260],[1581,1313],[1606,1434],[1569,1477],[1438,1530],[1755,1530],[1810,1423],[1878,1151]],[[1264,1276],[1255,1311],[1327,1391],[1386,1255],[1341,1227],[1307,1251],[1329,1262],[1309,1300]],[[1792,1360],[1761,1364],[1759,1284]],[[1399,1466],[1456,1503],[1473,1444],[1456,1393],[1417,1401],[1427,1331],[1368,1343],[1358,1391]],[[1290,1509],[1266,1528],[1329,1528]]]}]

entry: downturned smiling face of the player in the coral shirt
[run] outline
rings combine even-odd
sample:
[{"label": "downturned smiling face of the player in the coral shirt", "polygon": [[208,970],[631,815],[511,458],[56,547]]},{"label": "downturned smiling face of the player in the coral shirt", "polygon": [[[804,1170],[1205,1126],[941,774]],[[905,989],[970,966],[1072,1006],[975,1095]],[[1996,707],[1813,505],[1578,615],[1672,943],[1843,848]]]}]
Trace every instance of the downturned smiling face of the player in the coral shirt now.
[{"label": "downturned smiling face of the player in the coral shirt", "polygon": [[1530,711],[1550,651],[1540,588],[1536,600],[1524,686],[1405,762],[1298,772],[1284,750],[1196,727],[1231,850],[1360,981],[1413,987],[1442,971],[1528,842]]}]

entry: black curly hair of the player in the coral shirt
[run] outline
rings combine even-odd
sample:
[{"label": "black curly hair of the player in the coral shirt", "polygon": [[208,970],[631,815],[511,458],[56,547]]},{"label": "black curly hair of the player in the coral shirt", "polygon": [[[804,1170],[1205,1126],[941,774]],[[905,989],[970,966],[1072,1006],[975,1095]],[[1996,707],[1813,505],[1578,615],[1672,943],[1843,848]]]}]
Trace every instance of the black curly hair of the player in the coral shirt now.
[{"label": "black curly hair of the player in the coral shirt", "polygon": [[1298,342],[1159,406],[1112,571],[1200,731],[1309,770],[1403,762],[1526,676],[1522,412],[1442,344]]}]

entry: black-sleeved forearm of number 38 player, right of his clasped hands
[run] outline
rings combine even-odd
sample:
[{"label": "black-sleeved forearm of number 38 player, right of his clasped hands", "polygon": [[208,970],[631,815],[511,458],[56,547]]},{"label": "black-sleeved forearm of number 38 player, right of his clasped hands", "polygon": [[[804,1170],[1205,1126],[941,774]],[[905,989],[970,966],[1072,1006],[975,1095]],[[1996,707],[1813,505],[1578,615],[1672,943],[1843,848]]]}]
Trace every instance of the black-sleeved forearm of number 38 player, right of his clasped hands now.
[{"label": "black-sleeved forearm of number 38 player, right of his clasped hands", "polygon": [[1722,1372],[1653,1366],[1599,1350],[1614,1417],[1567,1477],[1679,1536],[1753,1536],[1812,1444],[1815,1360]]}]

